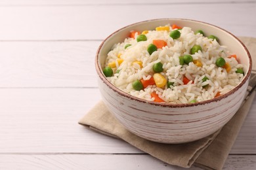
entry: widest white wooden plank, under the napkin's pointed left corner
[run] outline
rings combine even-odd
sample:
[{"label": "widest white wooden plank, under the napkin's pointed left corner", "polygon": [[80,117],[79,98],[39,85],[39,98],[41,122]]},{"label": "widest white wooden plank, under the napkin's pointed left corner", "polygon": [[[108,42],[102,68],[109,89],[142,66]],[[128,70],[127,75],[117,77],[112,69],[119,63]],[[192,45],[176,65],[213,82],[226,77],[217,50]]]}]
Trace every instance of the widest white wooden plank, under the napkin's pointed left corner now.
[{"label": "widest white wooden plank, under the napkin's pointed left corner", "polygon": [[[0,93],[0,153],[142,153],[77,124],[100,100],[98,89],[7,88]],[[255,110],[256,99],[231,153],[256,154]]]}]

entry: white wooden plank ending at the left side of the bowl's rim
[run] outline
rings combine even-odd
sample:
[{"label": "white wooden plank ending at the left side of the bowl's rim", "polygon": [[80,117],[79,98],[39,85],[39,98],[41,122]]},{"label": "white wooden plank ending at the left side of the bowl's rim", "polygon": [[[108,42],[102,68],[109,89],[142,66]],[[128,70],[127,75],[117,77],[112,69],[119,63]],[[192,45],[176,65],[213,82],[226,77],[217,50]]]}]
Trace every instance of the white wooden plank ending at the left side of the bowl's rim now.
[{"label": "white wooden plank ending at the left side of the bowl's rim", "polygon": [[0,42],[0,87],[96,87],[100,43]]}]

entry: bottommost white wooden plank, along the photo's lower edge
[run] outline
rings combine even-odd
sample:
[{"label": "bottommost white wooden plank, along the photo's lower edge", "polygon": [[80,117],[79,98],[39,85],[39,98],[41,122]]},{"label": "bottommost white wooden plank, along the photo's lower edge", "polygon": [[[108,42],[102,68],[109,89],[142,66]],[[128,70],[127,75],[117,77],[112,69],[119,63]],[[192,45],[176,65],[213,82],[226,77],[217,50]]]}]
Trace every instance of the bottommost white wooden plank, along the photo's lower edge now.
[{"label": "bottommost white wooden plank, along the photo's lower edge", "polygon": [[[1,154],[0,169],[171,169],[147,154]],[[190,167],[191,170],[200,169]],[[256,169],[255,155],[230,155],[223,169]]]}]

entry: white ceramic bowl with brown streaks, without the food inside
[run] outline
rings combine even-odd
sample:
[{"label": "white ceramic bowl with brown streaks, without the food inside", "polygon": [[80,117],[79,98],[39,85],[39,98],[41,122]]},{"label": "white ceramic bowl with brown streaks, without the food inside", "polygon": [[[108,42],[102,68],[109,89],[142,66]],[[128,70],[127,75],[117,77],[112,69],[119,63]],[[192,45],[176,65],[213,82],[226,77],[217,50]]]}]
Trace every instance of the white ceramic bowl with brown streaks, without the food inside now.
[{"label": "white ceramic bowl with brown streaks, without the food inside", "polygon": [[[219,37],[219,43],[228,46],[238,56],[240,63],[247,66],[242,82],[230,92],[214,99],[175,105],[133,97],[106,80],[102,67],[115,43],[123,42],[131,30],[153,30],[166,24],[192,27],[193,30],[202,29],[205,35]],[[95,64],[102,100],[110,112],[132,133],[159,143],[196,141],[223,127],[242,104],[251,73],[251,56],[238,38],[215,25],[185,19],[148,20],[121,28],[100,44]]]}]

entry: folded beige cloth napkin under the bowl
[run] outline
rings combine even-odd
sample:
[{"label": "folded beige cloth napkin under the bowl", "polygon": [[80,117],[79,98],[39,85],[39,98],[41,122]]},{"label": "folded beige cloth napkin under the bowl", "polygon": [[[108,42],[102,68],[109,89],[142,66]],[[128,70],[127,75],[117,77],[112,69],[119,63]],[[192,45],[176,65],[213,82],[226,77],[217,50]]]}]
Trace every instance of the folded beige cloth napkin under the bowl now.
[{"label": "folded beige cloth napkin under the bowl", "polygon": [[[256,46],[256,39],[249,37],[240,37],[240,39],[249,48],[251,56],[255,56],[253,60],[253,63],[255,63],[256,50],[253,49],[253,46]],[[253,67],[253,70],[256,70],[255,67]],[[236,112],[232,120],[212,135],[191,143],[162,144],[142,139],[119,124],[102,101],[85,114],[79,124],[88,126],[104,135],[123,139],[127,143],[171,165],[190,167],[194,163],[194,165],[205,169],[222,169],[253,102],[256,93],[254,91],[255,86],[256,74],[253,71],[246,94],[247,97],[245,97],[244,104]]]}]

